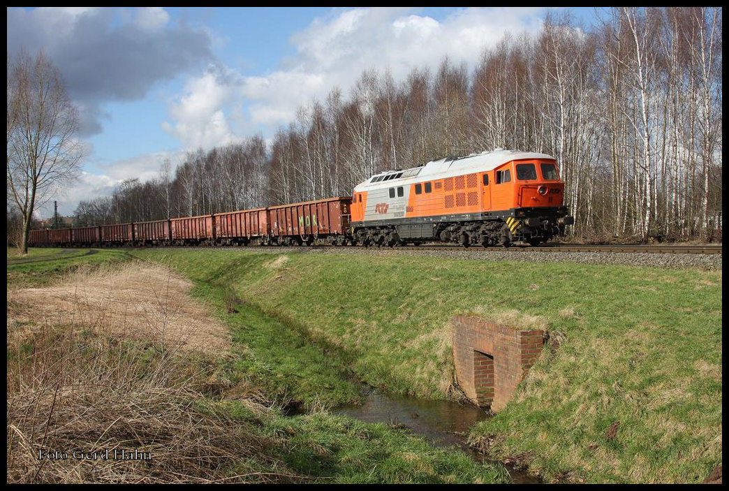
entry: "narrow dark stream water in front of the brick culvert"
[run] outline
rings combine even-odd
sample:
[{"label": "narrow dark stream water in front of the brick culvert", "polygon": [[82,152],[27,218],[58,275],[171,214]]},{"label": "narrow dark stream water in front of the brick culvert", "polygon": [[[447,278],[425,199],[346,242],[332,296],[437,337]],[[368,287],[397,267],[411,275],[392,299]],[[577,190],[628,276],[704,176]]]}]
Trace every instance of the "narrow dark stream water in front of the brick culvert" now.
[{"label": "narrow dark stream water in front of the brick culvert", "polygon": [[[381,422],[407,427],[413,433],[424,436],[435,446],[458,446],[473,460],[478,462],[487,460],[486,456],[466,443],[466,437],[476,422],[486,420],[490,415],[470,404],[391,395],[372,388],[364,404],[340,406],[332,409],[332,413],[344,414],[364,422]],[[525,471],[510,468],[508,465],[507,470],[515,484],[542,483],[541,479],[530,476]]]}]

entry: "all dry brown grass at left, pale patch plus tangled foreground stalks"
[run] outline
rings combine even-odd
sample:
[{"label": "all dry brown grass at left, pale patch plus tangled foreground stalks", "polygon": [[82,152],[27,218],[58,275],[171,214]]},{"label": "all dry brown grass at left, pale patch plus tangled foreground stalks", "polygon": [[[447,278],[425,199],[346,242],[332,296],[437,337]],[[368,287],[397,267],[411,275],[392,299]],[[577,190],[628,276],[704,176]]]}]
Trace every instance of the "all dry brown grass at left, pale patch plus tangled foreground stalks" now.
[{"label": "all dry brown grass at left, pale patch plus tangled foreground stalks", "polygon": [[[270,403],[225,377],[222,352],[211,355],[227,347],[222,328],[189,288],[164,268],[132,265],[9,294],[8,483],[303,480],[270,456],[277,442],[255,426]],[[223,391],[249,416],[210,397]],[[41,449],[67,457],[39,458]]]}]

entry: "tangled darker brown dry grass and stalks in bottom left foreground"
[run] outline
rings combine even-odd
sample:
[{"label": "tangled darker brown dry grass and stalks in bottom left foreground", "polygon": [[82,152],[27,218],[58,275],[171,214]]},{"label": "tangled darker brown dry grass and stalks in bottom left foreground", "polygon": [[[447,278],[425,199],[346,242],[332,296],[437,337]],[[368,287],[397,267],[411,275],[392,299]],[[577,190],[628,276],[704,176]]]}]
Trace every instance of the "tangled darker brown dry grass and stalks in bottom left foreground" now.
[{"label": "tangled darker brown dry grass and stalks in bottom left foreground", "polygon": [[[9,483],[299,480],[268,455],[272,441],[203,396],[215,370],[205,360],[67,329],[23,344],[34,349],[8,360]],[[250,414],[264,402],[252,390],[238,398]],[[39,459],[40,449],[67,458]],[[79,460],[74,449],[111,458]],[[115,450],[148,458],[114,459]]]}]

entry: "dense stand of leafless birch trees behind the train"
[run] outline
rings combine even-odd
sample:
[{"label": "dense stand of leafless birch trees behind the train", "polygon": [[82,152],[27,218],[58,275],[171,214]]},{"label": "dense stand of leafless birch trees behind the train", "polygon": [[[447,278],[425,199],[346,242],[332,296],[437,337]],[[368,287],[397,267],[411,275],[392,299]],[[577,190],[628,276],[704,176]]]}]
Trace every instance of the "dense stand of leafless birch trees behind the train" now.
[{"label": "dense stand of leafless birch trees behind the train", "polygon": [[[720,237],[721,8],[599,12],[588,28],[547,15],[538,32],[484,50],[472,71],[448,58],[405,80],[369,69],[300,107],[268,148],[253,136],[190,152],[174,176],[128,182],[79,212],[157,220],[163,209],[184,216],[343,196],[383,169],[505,147],[558,158],[575,237]],[[17,114],[8,98],[9,136]]]}]

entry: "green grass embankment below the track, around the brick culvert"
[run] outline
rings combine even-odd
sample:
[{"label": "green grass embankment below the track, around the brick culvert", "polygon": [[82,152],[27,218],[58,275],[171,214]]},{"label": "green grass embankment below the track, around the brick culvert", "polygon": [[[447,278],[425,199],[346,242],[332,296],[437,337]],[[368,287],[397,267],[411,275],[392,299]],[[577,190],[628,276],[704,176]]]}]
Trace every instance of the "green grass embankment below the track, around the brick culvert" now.
[{"label": "green grass embankment below the track, around the brick culvert", "polygon": [[[239,251],[139,252],[346,355],[386,390],[445,397],[448,319],[517,310],[564,342],[472,441],[547,479],[701,482],[721,463],[720,271]],[[210,291],[210,290],[208,290]],[[563,336],[564,335],[564,336]]]}]

